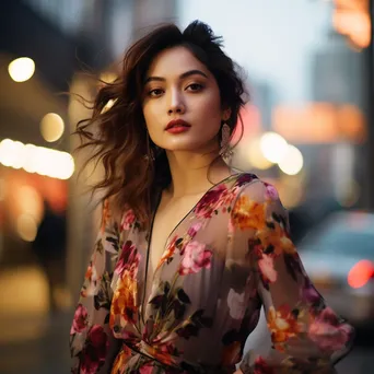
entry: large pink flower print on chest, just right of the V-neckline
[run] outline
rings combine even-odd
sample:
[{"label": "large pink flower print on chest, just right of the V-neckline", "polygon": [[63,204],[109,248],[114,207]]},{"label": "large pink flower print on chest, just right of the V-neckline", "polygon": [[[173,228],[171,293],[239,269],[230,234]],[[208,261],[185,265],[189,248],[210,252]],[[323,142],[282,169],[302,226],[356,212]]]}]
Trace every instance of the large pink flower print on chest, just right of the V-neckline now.
[{"label": "large pink flower print on chest, just right of the V-neckline", "polygon": [[206,249],[206,245],[199,242],[189,242],[184,252],[184,257],[179,267],[179,274],[186,276],[196,273],[200,269],[209,269],[211,265],[212,252]]}]

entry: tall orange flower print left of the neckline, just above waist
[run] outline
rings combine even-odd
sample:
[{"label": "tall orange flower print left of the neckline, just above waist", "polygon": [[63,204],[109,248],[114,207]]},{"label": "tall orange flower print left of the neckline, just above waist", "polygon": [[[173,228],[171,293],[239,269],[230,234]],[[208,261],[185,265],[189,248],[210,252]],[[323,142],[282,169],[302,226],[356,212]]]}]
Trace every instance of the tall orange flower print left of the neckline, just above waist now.
[{"label": "tall orange flower print left of the neckline, just above waist", "polygon": [[110,327],[114,327],[115,317],[119,316],[120,319],[126,322],[136,323],[138,313],[137,305],[138,283],[128,270],[125,270],[122,277],[118,279],[117,289],[113,296],[110,306]]}]

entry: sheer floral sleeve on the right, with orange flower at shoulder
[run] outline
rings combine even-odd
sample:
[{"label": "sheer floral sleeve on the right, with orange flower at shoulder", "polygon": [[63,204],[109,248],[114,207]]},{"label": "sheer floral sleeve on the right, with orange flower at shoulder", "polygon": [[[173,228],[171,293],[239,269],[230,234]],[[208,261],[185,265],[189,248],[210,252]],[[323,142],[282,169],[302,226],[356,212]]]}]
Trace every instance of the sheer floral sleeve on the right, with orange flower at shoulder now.
[{"label": "sheer floral sleeve on the right, with orange flower at shoulder", "polygon": [[[349,351],[353,327],[314,288],[289,236],[288,215],[271,185],[254,182],[232,212],[242,260],[255,274],[272,347],[246,353],[243,373],[331,373]],[[250,314],[250,311],[247,311]]]}]

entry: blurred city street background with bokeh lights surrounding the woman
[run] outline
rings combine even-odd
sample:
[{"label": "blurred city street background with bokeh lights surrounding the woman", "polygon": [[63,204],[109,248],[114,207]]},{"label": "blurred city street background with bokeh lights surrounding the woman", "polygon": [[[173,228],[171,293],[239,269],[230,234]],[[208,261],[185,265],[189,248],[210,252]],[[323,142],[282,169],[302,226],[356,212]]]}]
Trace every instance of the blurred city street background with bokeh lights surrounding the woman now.
[{"label": "blurred city street background with bokeh lights surrounding the woman", "polygon": [[151,27],[197,19],[222,35],[250,96],[230,166],[277,188],[308,277],[360,327],[338,373],[374,373],[374,337],[362,334],[374,326],[374,0],[270,2],[1,2],[0,374],[70,372],[101,222],[89,192],[101,165],[82,168],[74,152],[92,116],[79,97],[120,80],[124,51]]}]

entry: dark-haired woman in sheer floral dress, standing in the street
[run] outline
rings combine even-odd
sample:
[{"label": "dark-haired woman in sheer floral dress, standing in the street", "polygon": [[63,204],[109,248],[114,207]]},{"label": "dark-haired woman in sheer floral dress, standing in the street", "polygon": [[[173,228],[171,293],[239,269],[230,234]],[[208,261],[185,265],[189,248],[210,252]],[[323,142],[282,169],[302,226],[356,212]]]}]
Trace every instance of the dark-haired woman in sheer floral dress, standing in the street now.
[{"label": "dark-haired woman in sheer floral dress, standing in the street", "polygon": [[79,125],[107,195],[73,373],[234,373],[262,304],[272,348],[237,373],[329,372],[348,351],[353,329],[305,274],[276,189],[223,160],[243,93],[206,24],[165,25],[129,48]]}]

